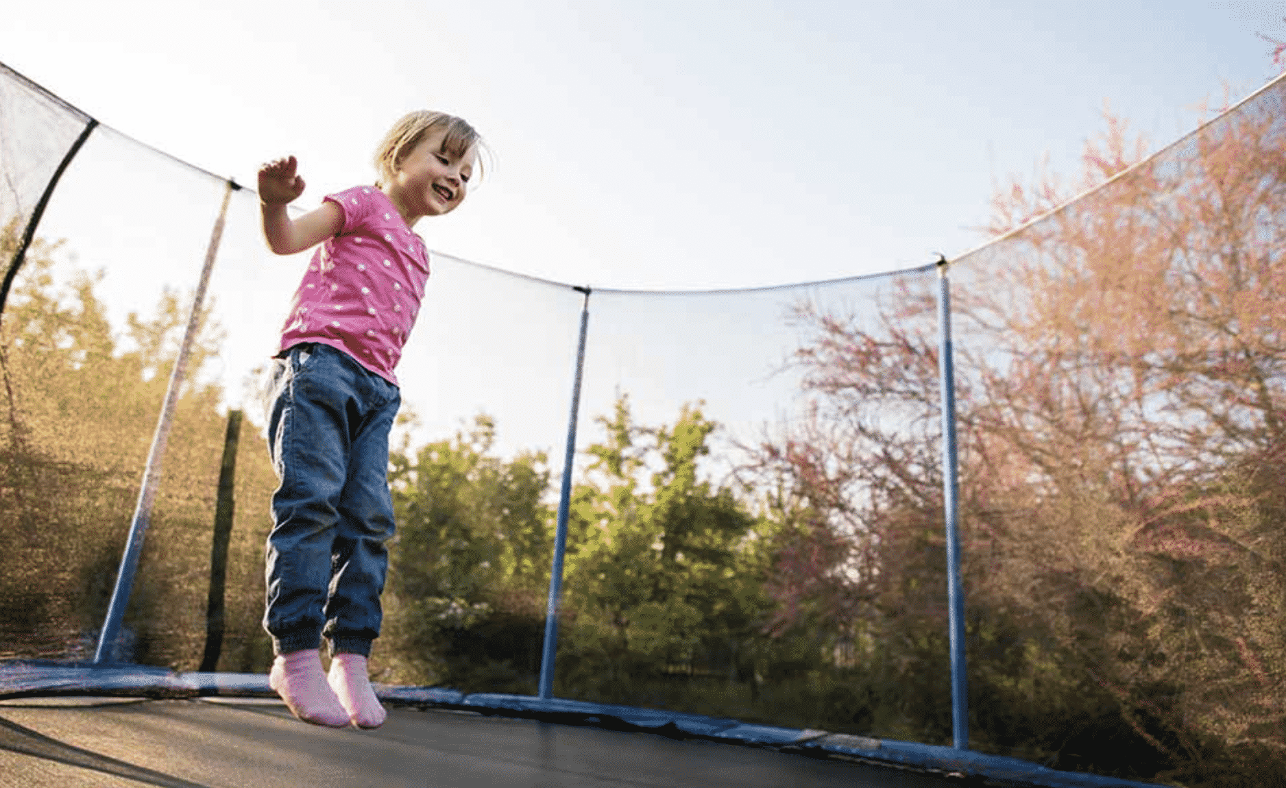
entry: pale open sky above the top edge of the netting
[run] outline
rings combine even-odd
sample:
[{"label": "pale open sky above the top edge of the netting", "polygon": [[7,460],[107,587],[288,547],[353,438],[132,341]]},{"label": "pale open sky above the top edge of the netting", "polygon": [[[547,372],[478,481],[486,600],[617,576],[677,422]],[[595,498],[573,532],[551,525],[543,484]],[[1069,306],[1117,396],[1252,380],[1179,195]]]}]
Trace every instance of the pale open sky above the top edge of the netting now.
[{"label": "pale open sky above the top edge of the netting", "polygon": [[433,249],[561,283],[720,289],[919,266],[995,188],[1073,180],[1106,105],[1152,147],[1280,72],[1286,3],[48,0],[0,62],[99,122],[314,207],[392,122],[469,120],[486,172]]}]

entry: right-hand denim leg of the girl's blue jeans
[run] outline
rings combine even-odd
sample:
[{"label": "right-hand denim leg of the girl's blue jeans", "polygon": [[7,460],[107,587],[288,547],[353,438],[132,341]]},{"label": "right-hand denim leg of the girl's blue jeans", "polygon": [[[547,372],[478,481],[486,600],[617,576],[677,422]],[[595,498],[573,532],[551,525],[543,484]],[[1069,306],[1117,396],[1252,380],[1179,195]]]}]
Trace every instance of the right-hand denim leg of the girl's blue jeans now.
[{"label": "right-hand denim leg of the girl's blue jeans", "polygon": [[[388,571],[385,542],[395,528],[388,490],[388,431],[401,404],[395,386],[382,378],[370,383],[376,390],[368,397],[373,406],[354,437],[349,478],[340,495],[331,599],[325,608],[331,653],[364,657],[370,656],[370,641],[379,636],[383,618],[379,595]],[[376,407],[379,401],[382,406]]]}]

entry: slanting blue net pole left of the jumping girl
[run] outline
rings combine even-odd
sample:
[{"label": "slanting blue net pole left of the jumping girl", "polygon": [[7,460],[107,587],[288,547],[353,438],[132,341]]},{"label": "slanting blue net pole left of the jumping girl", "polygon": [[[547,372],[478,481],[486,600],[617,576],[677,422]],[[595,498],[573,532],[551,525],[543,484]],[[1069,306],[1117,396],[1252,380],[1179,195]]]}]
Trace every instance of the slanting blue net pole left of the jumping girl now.
[{"label": "slanting blue net pole left of the jumping girl", "polygon": [[157,488],[161,486],[161,460],[165,458],[166,443],[170,440],[170,428],[174,427],[174,411],[179,404],[179,392],[183,388],[188,356],[192,352],[192,343],[197,338],[197,330],[201,328],[201,305],[206,298],[210,273],[215,267],[219,242],[224,235],[228,203],[235,189],[240,189],[240,186],[233,181],[228,181],[228,188],[224,190],[224,203],[219,208],[219,219],[215,220],[215,228],[210,234],[210,246],[206,248],[206,262],[201,269],[201,282],[197,283],[197,292],[192,298],[192,312],[188,315],[188,328],[184,330],[183,343],[179,346],[179,356],[175,359],[174,369],[170,372],[170,383],[165,392],[165,405],[162,405],[161,416],[157,419],[157,429],[152,434],[152,449],[148,450],[148,461],[143,469],[143,483],[139,487],[139,500],[134,506],[134,519],[130,522],[130,536],[125,541],[125,554],[121,557],[121,568],[116,573],[112,602],[107,607],[107,617],[103,620],[103,632],[98,638],[98,649],[94,652],[95,665],[113,661],[116,639],[121,632],[121,621],[125,618],[125,607],[130,603],[130,591],[134,590],[134,573],[139,568],[143,536],[147,533],[148,523],[152,519],[152,505],[156,503]]}]

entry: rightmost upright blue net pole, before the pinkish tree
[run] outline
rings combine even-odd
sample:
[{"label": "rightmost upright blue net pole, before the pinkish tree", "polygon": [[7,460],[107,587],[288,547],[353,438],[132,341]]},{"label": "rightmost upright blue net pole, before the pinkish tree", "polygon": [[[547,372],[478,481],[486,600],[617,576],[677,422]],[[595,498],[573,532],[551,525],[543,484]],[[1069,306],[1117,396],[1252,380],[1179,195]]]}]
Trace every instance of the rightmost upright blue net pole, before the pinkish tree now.
[{"label": "rightmost upright blue net pole, before the pinkish tree", "polygon": [[968,684],[964,674],[964,587],[961,584],[959,464],[955,452],[955,370],[952,348],[952,296],[946,258],[937,261],[937,373],[943,391],[943,504],[946,514],[946,600],[952,648],[952,739],[968,749]]}]

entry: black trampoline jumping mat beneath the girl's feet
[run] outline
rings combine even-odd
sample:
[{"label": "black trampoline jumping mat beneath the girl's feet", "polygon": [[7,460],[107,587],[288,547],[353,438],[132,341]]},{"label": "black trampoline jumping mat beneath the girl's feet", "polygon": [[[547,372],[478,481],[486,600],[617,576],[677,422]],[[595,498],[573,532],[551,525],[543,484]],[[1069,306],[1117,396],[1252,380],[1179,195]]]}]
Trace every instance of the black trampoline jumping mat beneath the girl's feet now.
[{"label": "black trampoline jumping mat beneath the girl's feet", "polygon": [[374,731],[297,721],[275,701],[0,702],[4,788],[928,788],[935,775],[770,749],[436,708]]}]

